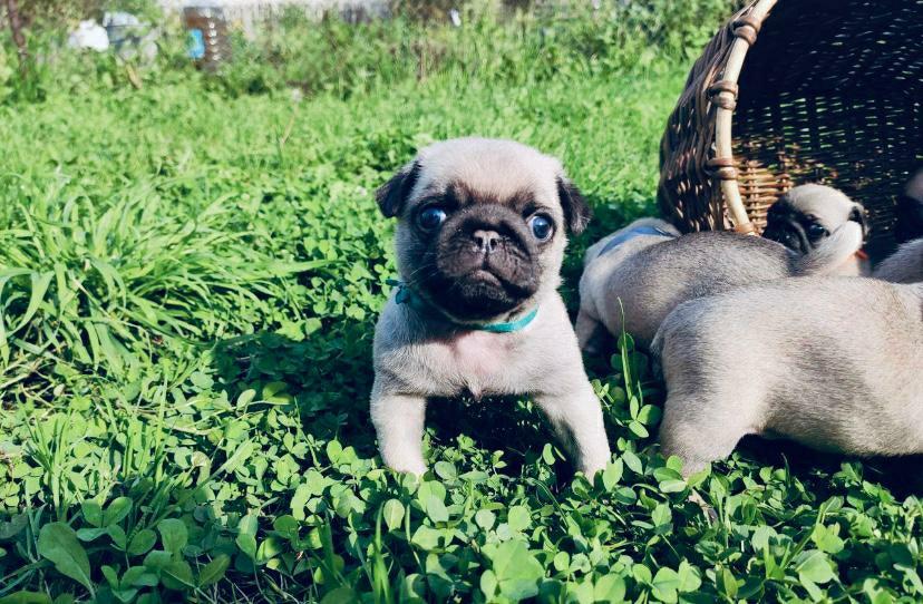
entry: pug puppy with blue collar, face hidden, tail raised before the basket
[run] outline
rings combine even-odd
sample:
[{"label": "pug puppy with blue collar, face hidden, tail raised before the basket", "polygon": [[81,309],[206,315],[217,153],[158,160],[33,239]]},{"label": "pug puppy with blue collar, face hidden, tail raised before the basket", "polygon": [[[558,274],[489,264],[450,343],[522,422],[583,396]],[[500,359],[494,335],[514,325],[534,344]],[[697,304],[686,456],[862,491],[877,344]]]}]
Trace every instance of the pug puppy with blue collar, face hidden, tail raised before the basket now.
[{"label": "pug puppy with blue collar, face hidden, tail raised before the basket", "polygon": [[576,334],[593,354],[624,329],[647,349],[682,302],[757,281],[834,273],[862,247],[862,226],[846,222],[806,254],[731,232],[680,236],[655,218],[637,221],[586,251]]}]

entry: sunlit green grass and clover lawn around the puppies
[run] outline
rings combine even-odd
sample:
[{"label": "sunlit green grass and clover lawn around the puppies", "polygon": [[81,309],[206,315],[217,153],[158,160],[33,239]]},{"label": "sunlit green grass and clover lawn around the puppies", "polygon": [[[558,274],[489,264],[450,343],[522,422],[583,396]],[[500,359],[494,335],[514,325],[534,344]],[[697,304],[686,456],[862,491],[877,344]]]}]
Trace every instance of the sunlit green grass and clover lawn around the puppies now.
[{"label": "sunlit green grass and clover lawn around the puppies", "polygon": [[372,191],[446,137],[558,155],[596,210],[573,304],[582,249],[653,211],[688,65],[649,59],[0,107],[0,603],[923,598],[923,509],[881,465],[749,444],[683,483],[630,347],[590,360],[614,449],[595,484],[515,400],[434,407],[422,481],[381,467]]}]

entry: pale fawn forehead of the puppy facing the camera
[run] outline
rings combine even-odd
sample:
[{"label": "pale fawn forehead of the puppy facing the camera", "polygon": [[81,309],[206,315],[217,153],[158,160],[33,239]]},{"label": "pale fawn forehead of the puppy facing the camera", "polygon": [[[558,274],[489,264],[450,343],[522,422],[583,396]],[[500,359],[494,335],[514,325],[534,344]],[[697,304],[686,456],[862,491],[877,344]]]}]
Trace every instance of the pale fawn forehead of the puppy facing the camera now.
[{"label": "pale fawn forehead of the puppy facing the camera", "polygon": [[464,188],[473,201],[503,203],[528,195],[536,203],[557,205],[561,164],[524,145],[499,140],[439,144],[420,152],[418,160],[415,199]]}]

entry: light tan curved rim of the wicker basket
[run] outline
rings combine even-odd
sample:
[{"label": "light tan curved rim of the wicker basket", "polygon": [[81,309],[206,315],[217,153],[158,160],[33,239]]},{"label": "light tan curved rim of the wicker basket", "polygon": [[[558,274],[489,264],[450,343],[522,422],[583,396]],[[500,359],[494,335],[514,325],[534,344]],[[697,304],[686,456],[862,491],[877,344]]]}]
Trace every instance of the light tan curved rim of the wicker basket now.
[{"label": "light tan curved rim of the wicker basket", "polygon": [[732,149],[733,111],[737,107],[738,80],[744,67],[744,60],[750,47],[756,43],[757,35],[769,11],[778,0],[757,0],[741,10],[733,21],[736,37],[731,50],[725,61],[725,68],[716,81],[709,84],[711,101],[717,107],[715,117],[715,157],[709,164],[717,168],[716,173],[721,181],[721,193],[733,230],[740,233],[756,234],[756,226],[750,222],[744,199],[738,186],[738,172],[735,167]]}]

